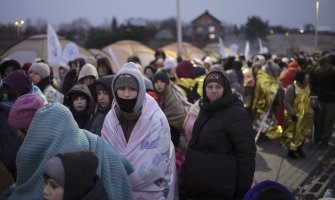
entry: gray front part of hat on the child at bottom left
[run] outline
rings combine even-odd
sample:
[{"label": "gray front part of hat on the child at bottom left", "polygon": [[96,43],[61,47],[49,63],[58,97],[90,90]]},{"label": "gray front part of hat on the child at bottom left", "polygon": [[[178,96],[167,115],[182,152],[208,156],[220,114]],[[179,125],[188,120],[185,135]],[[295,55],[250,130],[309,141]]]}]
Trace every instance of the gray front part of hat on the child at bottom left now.
[{"label": "gray front part of hat on the child at bottom left", "polygon": [[43,168],[43,174],[54,179],[60,186],[65,186],[65,172],[63,162],[59,157],[53,157],[47,161]]}]

